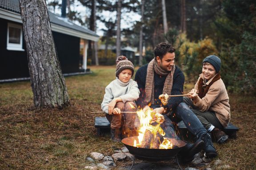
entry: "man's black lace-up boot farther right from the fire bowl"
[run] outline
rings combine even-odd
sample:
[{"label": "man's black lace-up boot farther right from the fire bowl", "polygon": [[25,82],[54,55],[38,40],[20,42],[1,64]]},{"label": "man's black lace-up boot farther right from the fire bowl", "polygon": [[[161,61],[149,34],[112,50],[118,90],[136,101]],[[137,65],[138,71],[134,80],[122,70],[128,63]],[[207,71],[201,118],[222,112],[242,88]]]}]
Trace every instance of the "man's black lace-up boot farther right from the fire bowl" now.
[{"label": "man's black lace-up boot farther right from the fire bowl", "polygon": [[204,155],[208,158],[216,157],[218,154],[215,147],[213,146],[211,135],[209,133],[204,133],[200,136],[200,139],[204,141]]}]

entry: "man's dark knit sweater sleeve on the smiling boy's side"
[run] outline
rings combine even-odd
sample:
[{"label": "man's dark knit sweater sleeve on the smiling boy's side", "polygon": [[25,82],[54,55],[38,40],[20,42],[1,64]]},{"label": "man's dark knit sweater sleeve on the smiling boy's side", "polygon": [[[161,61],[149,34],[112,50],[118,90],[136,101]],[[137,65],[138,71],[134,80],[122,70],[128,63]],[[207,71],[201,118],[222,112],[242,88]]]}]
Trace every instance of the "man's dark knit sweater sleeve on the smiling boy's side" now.
[{"label": "man's dark knit sweater sleeve on the smiling boy's side", "polygon": [[[183,94],[183,86],[185,77],[182,71],[176,67],[177,74],[173,77],[172,92],[171,95]],[[164,106],[167,108],[167,112],[174,112],[176,107],[182,102],[183,97],[169,97],[168,104]]]}]

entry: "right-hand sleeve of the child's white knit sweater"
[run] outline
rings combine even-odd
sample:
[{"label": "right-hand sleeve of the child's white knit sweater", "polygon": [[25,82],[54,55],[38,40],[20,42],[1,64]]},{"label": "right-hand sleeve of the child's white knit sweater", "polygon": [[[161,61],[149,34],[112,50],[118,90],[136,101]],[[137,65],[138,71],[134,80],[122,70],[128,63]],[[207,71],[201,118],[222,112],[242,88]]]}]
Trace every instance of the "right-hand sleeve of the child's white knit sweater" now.
[{"label": "right-hand sleeve of the child's white knit sweater", "polygon": [[138,84],[136,83],[136,81],[131,81],[130,83],[131,85],[128,89],[128,92],[120,96],[124,103],[127,101],[137,100],[140,95],[140,90],[138,89]]}]

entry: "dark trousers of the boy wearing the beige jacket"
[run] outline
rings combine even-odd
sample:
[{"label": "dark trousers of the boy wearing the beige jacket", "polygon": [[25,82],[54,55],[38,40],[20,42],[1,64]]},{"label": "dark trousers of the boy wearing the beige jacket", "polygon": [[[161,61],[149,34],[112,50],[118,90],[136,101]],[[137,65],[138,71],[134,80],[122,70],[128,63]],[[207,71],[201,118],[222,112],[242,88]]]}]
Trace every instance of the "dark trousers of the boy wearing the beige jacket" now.
[{"label": "dark trousers of the boy wearing the beige jacket", "polygon": [[215,112],[213,111],[201,112],[197,110],[193,102],[188,97],[183,97],[183,102],[188,104],[192,112],[196,114],[200,122],[204,125],[204,128],[208,129],[211,127],[211,125],[219,129],[223,128],[222,124],[220,123],[220,120],[218,120],[218,118],[216,117]]}]

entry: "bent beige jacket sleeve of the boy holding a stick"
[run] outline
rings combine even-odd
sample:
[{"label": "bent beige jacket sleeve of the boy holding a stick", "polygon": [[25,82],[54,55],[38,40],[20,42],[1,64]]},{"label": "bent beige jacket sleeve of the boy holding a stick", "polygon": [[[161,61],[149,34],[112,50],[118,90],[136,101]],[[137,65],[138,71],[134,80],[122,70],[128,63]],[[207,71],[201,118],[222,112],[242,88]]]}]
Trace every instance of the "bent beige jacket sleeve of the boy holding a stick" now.
[{"label": "bent beige jacket sleeve of the boy holding a stick", "polygon": [[194,105],[201,112],[206,112],[211,107],[212,103],[216,100],[216,98],[220,95],[220,92],[220,88],[210,87],[210,89],[202,99],[200,99],[199,96],[196,96],[195,99],[193,99]]}]

